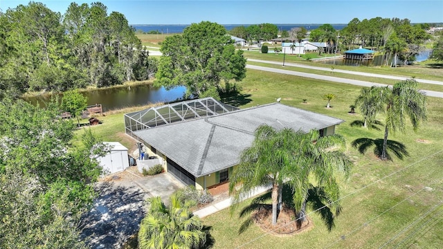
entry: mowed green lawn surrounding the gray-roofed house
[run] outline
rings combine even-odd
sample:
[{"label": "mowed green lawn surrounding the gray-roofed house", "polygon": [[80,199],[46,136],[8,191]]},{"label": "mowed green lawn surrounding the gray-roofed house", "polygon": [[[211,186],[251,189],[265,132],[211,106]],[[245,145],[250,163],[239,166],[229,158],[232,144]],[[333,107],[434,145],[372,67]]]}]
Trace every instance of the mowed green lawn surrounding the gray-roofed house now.
[{"label": "mowed green lawn surrounding the gray-roofed house", "polygon": [[[416,133],[409,122],[406,133],[390,133],[389,139],[400,142],[406,150],[397,150],[401,159],[388,151],[392,160],[385,162],[374,156],[374,146],[364,154],[352,147],[356,139],[383,139],[383,127],[368,130],[351,126],[362,119],[358,109],[355,115],[348,113],[361,87],[255,70],[248,70],[239,86],[239,95],[222,101],[247,108],[282,98],[282,104],[345,120],[336,133],[346,138],[354,167],[350,179],[341,179],[343,210],[332,230],[327,230],[320,216],[309,210],[314,225],[300,234],[275,236],[256,225],[239,234],[244,220],[239,218],[240,209],[232,216],[229,210],[221,210],[203,219],[204,225],[212,227],[214,248],[441,248],[443,99],[428,98],[428,122]],[[332,109],[325,108],[323,95],[327,93],[336,95]],[[302,103],[304,99],[307,103]],[[100,118],[103,124],[91,129],[104,140],[133,148],[135,141],[124,133],[123,113],[134,110],[107,113]],[[384,122],[382,115],[378,118]]]}]

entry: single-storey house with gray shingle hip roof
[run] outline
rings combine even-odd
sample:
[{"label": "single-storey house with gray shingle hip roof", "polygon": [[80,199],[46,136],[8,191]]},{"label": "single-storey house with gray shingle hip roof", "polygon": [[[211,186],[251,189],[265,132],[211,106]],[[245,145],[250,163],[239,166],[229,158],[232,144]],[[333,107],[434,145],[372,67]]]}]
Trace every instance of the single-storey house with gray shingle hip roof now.
[{"label": "single-storey house with gray shingle hip roof", "polygon": [[[207,99],[217,102],[213,98],[201,100]],[[200,110],[205,108],[199,105]],[[143,142],[150,156],[156,154],[162,158],[165,170],[183,183],[208,188],[228,181],[239,163],[239,155],[251,146],[254,131],[262,124],[304,132],[316,129],[327,136],[334,134],[335,126],[341,122],[344,121],[275,102],[247,109],[233,107],[229,111],[145,127],[147,129],[127,129],[127,133]]]}]

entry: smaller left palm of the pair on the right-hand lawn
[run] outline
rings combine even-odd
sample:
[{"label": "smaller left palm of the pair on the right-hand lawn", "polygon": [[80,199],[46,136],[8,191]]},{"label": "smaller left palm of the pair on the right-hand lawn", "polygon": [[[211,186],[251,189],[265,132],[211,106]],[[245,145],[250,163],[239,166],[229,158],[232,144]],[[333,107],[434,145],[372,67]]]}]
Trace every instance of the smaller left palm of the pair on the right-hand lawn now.
[{"label": "smaller left palm of the pair on the right-hand lawn", "polygon": [[383,112],[381,104],[380,87],[363,87],[360,91],[359,97],[355,100],[355,106],[358,106],[363,115],[363,127],[372,127],[377,113]]}]

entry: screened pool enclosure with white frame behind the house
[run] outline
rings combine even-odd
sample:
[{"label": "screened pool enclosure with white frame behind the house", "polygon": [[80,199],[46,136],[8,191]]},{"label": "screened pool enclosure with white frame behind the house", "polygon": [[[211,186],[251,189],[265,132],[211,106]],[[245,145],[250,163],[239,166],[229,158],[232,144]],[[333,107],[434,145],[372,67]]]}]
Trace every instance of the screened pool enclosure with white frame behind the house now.
[{"label": "screened pool enclosure with white frame behind the house", "polygon": [[133,136],[133,131],[157,127],[163,124],[215,116],[238,110],[237,107],[223,104],[213,98],[187,100],[143,111],[125,114],[125,131]]}]

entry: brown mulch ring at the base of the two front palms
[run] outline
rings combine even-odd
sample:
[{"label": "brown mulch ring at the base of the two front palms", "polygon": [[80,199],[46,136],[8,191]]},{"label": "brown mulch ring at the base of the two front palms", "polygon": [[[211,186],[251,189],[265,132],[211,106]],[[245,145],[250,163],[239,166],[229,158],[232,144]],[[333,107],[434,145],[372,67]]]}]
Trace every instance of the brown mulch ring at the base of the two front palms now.
[{"label": "brown mulch ring at the base of the two front palms", "polygon": [[272,225],[272,205],[263,204],[253,212],[252,219],[264,232],[278,236],[290,236],[314,228],[314,223],[307,217],[306,221],[295,221],[296,212],[283,207],[277,218],[277,224]]}]

